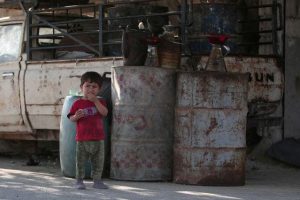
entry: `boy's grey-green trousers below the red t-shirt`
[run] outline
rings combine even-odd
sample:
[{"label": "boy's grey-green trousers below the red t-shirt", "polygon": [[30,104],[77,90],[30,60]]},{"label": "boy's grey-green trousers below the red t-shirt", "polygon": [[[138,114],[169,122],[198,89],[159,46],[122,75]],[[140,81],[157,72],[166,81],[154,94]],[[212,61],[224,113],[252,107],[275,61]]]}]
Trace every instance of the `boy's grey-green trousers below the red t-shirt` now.
[{"label": "boy's grey-green trousers below the red t-shirt", "polygon": [[104,140],[76,142],[76,179],[83,179],[85,162],[91,160],[92,178],[100,180],[104,166]]}]

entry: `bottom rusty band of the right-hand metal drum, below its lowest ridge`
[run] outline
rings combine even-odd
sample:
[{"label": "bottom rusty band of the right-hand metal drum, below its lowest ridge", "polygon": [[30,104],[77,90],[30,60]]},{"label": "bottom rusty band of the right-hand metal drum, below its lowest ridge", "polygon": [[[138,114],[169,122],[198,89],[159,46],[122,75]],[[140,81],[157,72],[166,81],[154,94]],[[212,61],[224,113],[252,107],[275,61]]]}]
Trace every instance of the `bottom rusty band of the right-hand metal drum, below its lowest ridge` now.
[{"label": "bottom rusty band of the right-hand metal drum, below its lowest ridge", "polygon": [[175,148],[174,182],[192,185],[245,184],[245,149]]}]

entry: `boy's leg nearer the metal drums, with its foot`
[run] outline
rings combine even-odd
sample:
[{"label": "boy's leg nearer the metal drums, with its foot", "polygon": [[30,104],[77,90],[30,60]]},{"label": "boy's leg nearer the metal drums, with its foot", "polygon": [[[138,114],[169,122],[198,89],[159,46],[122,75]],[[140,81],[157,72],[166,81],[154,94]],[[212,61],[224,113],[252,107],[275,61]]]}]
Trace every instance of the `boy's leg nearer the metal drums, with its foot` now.
[{"label": "boy's leg nearer the metal drums, with its foot", "polygon": [[101,181],[103,166],[104,166],[104,141],[92,142],[92,177],[94,179],[94,188],[107,189],[108,187],[104,185]]}]

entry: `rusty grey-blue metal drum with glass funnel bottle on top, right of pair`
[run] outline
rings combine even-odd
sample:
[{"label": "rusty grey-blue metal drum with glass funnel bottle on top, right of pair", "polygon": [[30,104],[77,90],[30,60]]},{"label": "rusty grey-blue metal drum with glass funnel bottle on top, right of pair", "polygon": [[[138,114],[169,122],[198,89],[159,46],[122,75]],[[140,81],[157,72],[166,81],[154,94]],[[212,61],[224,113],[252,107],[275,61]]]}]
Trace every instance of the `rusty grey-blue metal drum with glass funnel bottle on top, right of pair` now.
[{"label": "rusty grey-blue metal drum with glass funnel bottle on top, right of pair", "polygon": [[244,185],[247,90],[247,74],[178,74],[175,183]]}]

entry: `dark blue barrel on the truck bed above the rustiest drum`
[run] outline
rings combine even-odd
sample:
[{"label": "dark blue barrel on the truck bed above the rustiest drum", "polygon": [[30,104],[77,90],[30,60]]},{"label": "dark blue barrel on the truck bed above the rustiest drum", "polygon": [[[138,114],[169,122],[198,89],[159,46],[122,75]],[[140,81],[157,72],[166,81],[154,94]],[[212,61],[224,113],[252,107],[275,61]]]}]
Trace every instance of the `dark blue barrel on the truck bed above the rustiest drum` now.
[{"label": "dark blue barrel on the truck bed above the rustiest drum", "polygon": [[189,28],[190,38],[200,38],[191,41],[189,46],[192,53],[208,54],[211,45],[207,36],[211,34],[226,34],[230,39],[226,45],[230,47],[231,53],[244,53],[238,46],[242,42],[242,26],[238,23],[243,19],[242,8],[237,0],[207,0],[193,4],[192,26]]}]

